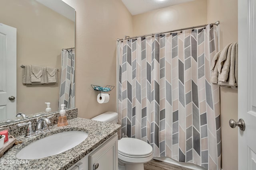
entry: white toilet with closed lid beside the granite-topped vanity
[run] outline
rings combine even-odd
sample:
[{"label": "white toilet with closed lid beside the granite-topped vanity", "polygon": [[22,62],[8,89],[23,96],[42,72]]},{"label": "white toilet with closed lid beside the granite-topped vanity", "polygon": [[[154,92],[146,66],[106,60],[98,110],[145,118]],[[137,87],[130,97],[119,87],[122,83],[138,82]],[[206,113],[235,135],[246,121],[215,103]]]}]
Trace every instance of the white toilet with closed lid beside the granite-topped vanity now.
[{"label": "white toilet with closed lid beside the granite-topped vanity", "polygon": [[[118,113],[108,111],[92,120],[117,123]],[[118,169],[144,170],[144,163],[153,158],[153,149],[148,143],[135,138],[123,137],[118,140]]]}]

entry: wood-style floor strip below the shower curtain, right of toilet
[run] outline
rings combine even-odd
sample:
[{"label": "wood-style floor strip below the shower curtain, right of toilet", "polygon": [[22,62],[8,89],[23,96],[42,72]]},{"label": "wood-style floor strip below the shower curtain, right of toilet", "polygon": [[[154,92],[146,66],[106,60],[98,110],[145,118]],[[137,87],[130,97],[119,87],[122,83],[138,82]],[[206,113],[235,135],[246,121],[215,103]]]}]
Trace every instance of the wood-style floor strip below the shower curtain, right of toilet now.
[{"label": "wood-style floor strip below the shower curtain, right of toilet", "polygon": [[190,169],[152,159],[146,164],[144,164],[144,170],[190,170]]}]

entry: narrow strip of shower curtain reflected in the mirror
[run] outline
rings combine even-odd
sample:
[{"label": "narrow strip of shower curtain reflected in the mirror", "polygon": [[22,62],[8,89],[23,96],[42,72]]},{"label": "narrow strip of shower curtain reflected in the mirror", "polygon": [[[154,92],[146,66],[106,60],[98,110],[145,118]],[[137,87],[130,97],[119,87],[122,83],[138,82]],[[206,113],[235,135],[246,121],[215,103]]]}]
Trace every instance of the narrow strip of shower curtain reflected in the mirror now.
[{"label": "narrow strip of shower curtain reflected in the mirror", "polygon": [[63,49],[61,57],[59,110],[61,104],[65,109],[75,107],[75,49]]}]

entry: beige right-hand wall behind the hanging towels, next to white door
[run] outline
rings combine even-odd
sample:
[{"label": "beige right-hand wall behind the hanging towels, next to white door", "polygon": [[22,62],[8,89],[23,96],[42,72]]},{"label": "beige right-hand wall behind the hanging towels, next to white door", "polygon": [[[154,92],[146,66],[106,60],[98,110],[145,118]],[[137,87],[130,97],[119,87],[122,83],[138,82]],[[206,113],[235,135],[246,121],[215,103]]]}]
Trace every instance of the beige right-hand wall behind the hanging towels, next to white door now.
[{"label": "beige right-hand wall behind the hanging towels, next to white door", "polygon": [[[228,43],[238,41],[237,0],[207,0],[207,21],[220,21],[220,50]],[[222,169],[238,168],[238,128],[228,125],[230,119],[238,120],[237,90],[220,88]]]}]

